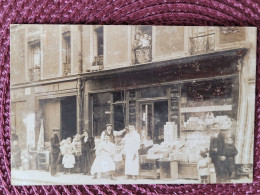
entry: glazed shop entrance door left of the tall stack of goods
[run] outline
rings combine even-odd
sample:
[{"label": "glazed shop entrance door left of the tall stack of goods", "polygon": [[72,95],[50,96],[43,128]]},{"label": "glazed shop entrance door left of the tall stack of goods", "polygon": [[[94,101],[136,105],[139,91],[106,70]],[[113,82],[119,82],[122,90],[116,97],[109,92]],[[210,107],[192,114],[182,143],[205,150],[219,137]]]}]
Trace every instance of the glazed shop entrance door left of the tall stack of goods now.
[{"label": "glazed shop entrance door left of the tall stack of goods", "polygon": [[168,121],[168,101],[154,101],[140,104],[141,130],[147,139],[161,143],[164,139],[164,125]]}]

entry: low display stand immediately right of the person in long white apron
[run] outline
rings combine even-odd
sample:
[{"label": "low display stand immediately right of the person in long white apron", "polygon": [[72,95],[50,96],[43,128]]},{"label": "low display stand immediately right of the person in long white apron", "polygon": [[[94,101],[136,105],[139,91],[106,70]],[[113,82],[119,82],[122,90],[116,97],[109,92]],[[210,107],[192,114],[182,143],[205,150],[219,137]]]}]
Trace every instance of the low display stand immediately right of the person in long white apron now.
[{"label": "low display stand immediately right of the person in long white apron", "polygon": [[140,155],[140,178],[153,178],[157,179],[159,177],[159,172],[157,172],[157,162],[158,159],[147,159],[146,155]]}]

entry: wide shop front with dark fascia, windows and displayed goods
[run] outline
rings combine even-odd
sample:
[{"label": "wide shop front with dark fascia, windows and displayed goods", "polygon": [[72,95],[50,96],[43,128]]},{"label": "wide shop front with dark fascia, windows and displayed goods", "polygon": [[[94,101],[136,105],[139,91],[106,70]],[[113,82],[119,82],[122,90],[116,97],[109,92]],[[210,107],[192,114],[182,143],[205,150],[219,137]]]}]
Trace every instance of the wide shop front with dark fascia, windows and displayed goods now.
[{"label": "wide shop front with dark fascia, windows and displayed goods", "polygon": [[[82,75],[85,128],[98,137],[107,123],[114,131],[134,125],[140,177],[197,179],[199,152],[208,151],[210,137],[218,129],[237,132],[244,54],[230,50]],[[118,153],[122,144],[119,138]]]}]

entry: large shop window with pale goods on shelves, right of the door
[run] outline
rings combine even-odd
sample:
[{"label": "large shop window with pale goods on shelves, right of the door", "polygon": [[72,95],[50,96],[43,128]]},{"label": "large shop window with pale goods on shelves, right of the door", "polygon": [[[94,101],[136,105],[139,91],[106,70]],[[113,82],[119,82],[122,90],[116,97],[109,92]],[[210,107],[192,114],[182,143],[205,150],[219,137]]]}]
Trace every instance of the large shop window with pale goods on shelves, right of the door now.
[{"label": "large shop window with pale goods on shelves, right of the door", "polygon": [[182,86],[181,130],[235,129],[236,78],[187,83]]}]

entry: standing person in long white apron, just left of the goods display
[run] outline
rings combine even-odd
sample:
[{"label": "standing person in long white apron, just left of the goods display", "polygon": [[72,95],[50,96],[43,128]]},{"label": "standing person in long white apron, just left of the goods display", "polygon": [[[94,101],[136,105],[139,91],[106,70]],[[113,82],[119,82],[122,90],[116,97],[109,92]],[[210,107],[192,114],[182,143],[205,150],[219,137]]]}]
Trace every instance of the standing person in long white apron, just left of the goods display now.
[{"label": "standing person in long white apron, just left of the goods display", "polygon": [[140,135],[134,126],[129,126],[129,133],[126,134],[123,141],[125,142],[124,151],[126,155],[125,174],[127,178],[132,176],[133,179],[137,179],[139,175],[138,150],[140,148]]}]

